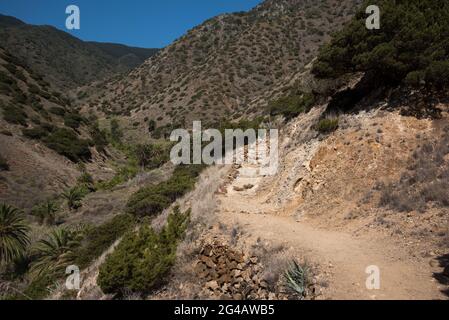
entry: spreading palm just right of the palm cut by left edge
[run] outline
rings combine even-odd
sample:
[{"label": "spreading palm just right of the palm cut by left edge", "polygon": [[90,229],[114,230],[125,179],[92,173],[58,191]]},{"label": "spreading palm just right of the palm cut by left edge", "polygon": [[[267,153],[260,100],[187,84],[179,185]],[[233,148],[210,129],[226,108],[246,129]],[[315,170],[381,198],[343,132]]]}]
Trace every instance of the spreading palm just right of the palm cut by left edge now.
[{"label": "spreading palm just right of the palm cut by left edge", "polygon": [[37,259],[31,265],[31,273],[37,277],[52,275],[65,270],[75,260],[75,249],[80,239],[77,232],[59,228],[53,230],[47,239],[36,245]]}]

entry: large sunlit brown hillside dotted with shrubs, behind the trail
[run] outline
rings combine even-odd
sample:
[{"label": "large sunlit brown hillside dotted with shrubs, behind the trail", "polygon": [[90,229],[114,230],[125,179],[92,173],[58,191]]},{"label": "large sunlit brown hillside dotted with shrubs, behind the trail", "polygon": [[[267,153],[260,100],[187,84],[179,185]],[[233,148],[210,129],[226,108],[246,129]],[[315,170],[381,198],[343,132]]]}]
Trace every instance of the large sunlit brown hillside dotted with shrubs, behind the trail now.
[{"label": "large sunlit brown hillside dotted with shrubs, behind the trail", "polygon": [[189,126],[192,119],[212,124],[260,114],[289,90],[357,3],[265,1],[247,13],[212,18],[98,94],[91,90],[89,110],[130,116],[142,132],[144,118]]}]

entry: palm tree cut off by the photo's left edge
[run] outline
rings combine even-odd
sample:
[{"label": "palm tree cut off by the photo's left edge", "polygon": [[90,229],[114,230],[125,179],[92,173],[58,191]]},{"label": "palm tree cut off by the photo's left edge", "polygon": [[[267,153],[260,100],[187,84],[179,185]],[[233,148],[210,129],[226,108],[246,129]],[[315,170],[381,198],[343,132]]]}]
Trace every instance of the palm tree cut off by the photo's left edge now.
[{"label": "palm tree cut off by the photo's left edge", "polygon": [[0,263],[9,263],[23,255],[30,244],[29,230],[18,209],[0,205]]}]

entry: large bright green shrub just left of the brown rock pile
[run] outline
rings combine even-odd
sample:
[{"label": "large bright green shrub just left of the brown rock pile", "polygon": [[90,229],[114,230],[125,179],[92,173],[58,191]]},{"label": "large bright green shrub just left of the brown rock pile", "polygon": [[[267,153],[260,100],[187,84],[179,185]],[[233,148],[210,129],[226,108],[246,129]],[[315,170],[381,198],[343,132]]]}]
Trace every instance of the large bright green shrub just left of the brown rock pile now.
[{"label": "large bright green shrub just left of the brown rock pile", "polygon": [[164,281],[176,260],[176,250],[189,223],[190,211],[179,208],[160,233],[150,226],[128,233],[100,267],[98,284],[108,294],[149,293]]}]

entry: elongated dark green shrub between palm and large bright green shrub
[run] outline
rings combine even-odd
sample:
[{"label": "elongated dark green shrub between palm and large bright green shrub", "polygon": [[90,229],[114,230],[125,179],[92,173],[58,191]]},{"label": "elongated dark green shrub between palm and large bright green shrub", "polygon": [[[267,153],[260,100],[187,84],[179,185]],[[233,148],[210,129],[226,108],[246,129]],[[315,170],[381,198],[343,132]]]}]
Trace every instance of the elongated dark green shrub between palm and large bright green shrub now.
[{"label": "elongated dark green shrub between palm and large bright green shrub", "polygon": [[134,225],[135,219],[132,215],[120,214],[100,226],[91,228],[75,253],[76,264],[80,268],[88,267]]}]

